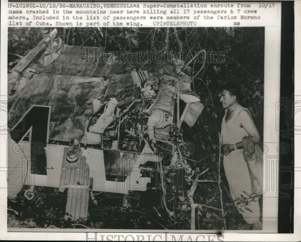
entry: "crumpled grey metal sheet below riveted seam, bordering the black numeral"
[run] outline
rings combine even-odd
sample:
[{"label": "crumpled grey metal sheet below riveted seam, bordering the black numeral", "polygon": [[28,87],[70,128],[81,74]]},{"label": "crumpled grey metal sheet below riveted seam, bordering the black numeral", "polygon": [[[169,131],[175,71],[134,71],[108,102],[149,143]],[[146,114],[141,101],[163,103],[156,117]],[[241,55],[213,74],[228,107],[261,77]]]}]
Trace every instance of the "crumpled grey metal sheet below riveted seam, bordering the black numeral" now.
[{"label": "crumpled grey metal sheet below riveted seam, bordering the black numeral", "polygon": [[17,93],[26,112],[32,105],[51,106],[49,139],[81,141],[92,113],[92,101],[105,91],[104,78],[36,74]]}]

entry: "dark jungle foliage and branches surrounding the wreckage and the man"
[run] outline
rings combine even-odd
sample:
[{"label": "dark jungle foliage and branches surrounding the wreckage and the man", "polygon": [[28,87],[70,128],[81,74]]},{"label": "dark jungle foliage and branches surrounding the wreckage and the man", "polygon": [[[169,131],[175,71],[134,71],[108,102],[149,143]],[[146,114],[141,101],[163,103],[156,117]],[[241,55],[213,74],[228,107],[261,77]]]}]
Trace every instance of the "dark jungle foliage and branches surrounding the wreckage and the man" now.
[{"label": "dark jungle foliage and branches surrounding the wreckage and the man", "polygon": [[[8,71],[51,30],[9,28]],[[185,141],[192,142],[195,146],[194,153],[189,157],[190,161],[188,160],[189,167],[195,174],[206,171],[200,175],[199,180],[208,180],[199,182],[194,189],[193,201],[197,204],[193,208],[195,229],[237,228],[243,219],[229,196],[222,161],[219,172],[218,132],[224,111],[219,103],[218,89],[226,83],[240,86],[243,93],[242,105],[251,111],[259,133],[262,134],[264,28],[58,28],[57,30],[57,37],[66,44],[101,46],[105,47],[106,51],[154,52],[163,51],[164,47],[168,47],[175,53],[184,51],[194,54],[201,50],[224,52],[223,63],[197,63],[193,60],[185,63],[191,69],[193,77],[191,89],[200,96],[205,107],[192,128],[183,123],[182,134]],[[168,174],[164,182],[166,184],[170,182]],[[193,181],[187,179],[187,190],[192,189],[193,185]],[[14,203],[9,203],[8,206],[19,219],[33,221],[38,227],[191,228],[193,213],[190,198],[175,189],[166,197],[166,205],[163,204],[160,189],[149,189],[140,193],[139,197],[119,195],[114,199],[107,199],[106,193],[94,192],[89,204],[90,217],[86,222],[79,221],[79,224],[62,219],[66,194],[58,193],[53,188],[37,189],[45,194],[47,199],[34,198],[31,201],[21,199],[18,206]]]}]

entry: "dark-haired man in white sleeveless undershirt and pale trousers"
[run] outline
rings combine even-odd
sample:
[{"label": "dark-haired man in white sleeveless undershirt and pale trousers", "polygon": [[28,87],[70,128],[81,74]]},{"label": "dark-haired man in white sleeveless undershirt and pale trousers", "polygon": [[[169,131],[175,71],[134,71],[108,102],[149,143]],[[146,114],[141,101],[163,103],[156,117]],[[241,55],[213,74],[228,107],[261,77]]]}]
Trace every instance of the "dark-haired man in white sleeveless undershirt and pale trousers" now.
[{"label": "dark-haired man in white sleeveless undershirt and pale trousers", "polygon": [[241,229],[262,229],[262,223],[259,222],[258,198],[255,201],[249,199],[248,204],[236,200],[237,198],[241,199],[241,196],[249,198],[248,195],[252,194],[250,175],[243,157],[242,139],[250,136],[256,145],[260,141],[260,136],[251,113],[239,103],[240,91],[237,88],[223,87],[219,96],[222,107],[225,109],[221,130],[224,168],[231,197],[246,221],[245,226]]}]

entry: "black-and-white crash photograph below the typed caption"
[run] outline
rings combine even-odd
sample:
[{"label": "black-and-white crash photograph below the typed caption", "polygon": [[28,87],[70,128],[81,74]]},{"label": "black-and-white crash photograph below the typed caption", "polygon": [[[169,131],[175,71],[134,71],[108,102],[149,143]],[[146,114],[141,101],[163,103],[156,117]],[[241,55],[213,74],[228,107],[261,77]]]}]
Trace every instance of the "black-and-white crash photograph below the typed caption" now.
[{"label": "black-and-white crash photograph below the typed caption", "polygon": [[264,40],[9,28],[8,228],[262,230]]}]

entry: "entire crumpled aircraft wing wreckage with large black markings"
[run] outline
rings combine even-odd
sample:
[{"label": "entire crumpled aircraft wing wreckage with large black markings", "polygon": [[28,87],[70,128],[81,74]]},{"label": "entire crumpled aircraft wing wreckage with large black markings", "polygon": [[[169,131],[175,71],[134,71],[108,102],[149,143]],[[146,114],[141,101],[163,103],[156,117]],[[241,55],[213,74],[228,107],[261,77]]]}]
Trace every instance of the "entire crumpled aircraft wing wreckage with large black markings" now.
[{"label": "entire crumpled aircraft wing wreckage with large black markings", "polygon": [[158,167],[185,168],[181,124],[203,104],[184,63],[85,63],[56,33],[8,74],[8,197],[68,189],[66,219],[85,219],[91,190],[146,191]]}]

